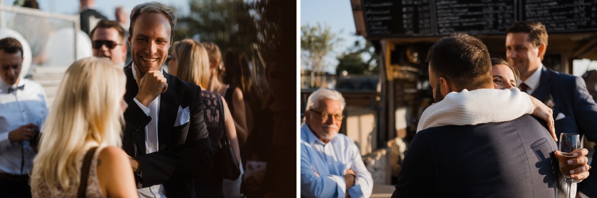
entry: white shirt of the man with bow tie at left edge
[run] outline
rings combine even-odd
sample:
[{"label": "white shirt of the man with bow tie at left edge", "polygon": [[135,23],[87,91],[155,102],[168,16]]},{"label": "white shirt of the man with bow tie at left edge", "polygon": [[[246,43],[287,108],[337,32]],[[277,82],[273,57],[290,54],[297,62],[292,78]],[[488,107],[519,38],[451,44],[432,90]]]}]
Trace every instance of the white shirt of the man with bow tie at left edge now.
[{"label": "white shirt of the man with bow tie at left edge", "polygon": [[[9,94],[9,88],[15,91]],[[29,123],[41,128],[47,115],[45,92],[39,83],[24,78],[20,78],[17,85],[0,81],[0,172],[12,175],[31,172],[35,151],[29,141],[11,143],[8,133]]]}]

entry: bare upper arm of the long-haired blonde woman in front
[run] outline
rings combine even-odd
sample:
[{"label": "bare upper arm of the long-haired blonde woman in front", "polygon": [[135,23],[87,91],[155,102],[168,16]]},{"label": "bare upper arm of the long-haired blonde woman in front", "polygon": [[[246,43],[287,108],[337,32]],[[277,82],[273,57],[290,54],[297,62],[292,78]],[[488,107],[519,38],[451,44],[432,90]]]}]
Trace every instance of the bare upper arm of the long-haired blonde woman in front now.
[{"label": "bare upper arm of the long-haired blonde woman in front", "polygon": [[107,197],[139,197],[127,153],[118,147],[105,147],[97,159],[97,179]]}]

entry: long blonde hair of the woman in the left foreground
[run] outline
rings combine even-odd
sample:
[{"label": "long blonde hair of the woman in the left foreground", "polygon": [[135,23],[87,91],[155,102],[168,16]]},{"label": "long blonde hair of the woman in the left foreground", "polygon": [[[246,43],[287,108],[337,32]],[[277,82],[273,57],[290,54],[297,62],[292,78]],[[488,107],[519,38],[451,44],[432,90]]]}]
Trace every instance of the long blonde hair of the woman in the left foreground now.
[{"label": "long blonde hair of the woman in the left foreground", "polygon": [[63,191],[76,190],[78,162],[90,147],[121,146],[125,83],[122,67],[104,58],[84,58],[70,65],[42,126],[32,188],[45,182]]}]

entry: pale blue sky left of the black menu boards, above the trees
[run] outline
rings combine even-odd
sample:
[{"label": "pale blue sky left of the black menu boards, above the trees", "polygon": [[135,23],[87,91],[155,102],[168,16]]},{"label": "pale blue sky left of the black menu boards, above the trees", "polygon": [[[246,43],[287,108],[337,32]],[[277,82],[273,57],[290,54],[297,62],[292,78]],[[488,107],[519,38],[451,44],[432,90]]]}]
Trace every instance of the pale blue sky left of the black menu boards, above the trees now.
[{"label": "pale blue sky left of the black menu boards, above the trees", "polygon": [[343,39],[325,58],[326,70],[336,73],[336,56],[346,51],[346,48],[352,46],[359,37],[362,38],[354,36],[356,28],[350,0],[301,0],[300,25],[315,26],[317,22],[322,25],[328,24],[332,32]]}]

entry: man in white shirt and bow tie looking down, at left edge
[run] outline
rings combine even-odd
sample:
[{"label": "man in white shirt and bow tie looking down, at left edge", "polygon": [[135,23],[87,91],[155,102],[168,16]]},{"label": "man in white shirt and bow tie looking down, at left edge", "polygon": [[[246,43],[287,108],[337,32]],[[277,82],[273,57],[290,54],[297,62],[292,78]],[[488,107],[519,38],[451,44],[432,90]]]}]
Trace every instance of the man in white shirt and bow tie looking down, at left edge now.
[{"label": "man in white shirt and bow tie looking down, at left edge", "polygon": [[20,75],[22,64],[20,42],[0,39],[0,191],[6,197],[31,197],[35,137],[48,115],[44,88]]}]

